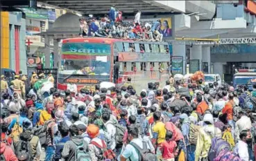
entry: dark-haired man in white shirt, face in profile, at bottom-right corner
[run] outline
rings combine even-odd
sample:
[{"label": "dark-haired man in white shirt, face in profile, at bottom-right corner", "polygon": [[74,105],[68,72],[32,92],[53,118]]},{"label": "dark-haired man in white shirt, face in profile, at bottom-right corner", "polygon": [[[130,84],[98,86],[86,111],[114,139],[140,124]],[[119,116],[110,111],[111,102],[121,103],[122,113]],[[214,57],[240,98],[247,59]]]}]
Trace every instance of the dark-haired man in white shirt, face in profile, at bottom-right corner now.
[{"label": "dark-haired man in white shirt, face in profile, at bottom-right corner", "polygon": [[248,144],[246,141],[252,138],[250,131],[241,131],[239,138],[240,140],[237,142],[236,146],[234,146],[234,153],[239,155],[242,160],[249,161]]}]

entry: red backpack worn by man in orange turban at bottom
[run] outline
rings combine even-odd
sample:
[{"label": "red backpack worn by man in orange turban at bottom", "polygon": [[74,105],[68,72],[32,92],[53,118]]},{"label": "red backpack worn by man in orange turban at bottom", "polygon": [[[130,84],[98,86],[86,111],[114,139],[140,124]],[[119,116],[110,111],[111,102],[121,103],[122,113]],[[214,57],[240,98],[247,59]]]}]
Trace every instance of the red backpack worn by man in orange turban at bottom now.
[{"label": "red backpack worn by man in orange turban at bottom", "polygon": [[99,145],[97,142],[90,142],[90,144],[93,144],[95,145],[96,147],[98,147],[99,149],[101,149],[102,151],[102,156],[99,160],[113,160],[114,161],[114,158],[116,157],[116,154],[114,153],[114,151],[112,151],[112,149],[107,149],[107,145],[105,144],[105,142],[103,140],[101,140],[102,142],[102,145]]}]

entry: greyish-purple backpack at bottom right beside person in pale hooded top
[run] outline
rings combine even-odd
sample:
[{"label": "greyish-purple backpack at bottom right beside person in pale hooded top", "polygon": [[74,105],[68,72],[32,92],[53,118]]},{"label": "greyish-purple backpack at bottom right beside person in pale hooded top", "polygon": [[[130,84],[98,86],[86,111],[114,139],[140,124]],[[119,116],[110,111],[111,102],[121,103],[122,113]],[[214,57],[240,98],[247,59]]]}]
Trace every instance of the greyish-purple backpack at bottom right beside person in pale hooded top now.
[{"label": "greyish-purple backpack at bottom right beside person in pale hooded top", "polygon": [[230,144],[222,138],[213,138],[210,151],[208,152],[208,159],[213,161],[223,149],[230,151]]}]

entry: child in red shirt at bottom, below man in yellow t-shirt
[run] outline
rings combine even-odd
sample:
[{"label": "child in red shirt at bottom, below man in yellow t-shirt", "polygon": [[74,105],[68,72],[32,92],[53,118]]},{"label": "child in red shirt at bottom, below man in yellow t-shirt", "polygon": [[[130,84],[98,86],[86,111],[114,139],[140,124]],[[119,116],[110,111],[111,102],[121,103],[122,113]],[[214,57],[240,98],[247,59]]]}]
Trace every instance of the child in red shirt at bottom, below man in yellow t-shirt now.
[{"label": "child in red shirt at bottom, below man in yellow t-shirt", "polygon": [[163,161],[174,161],[174,152],[176,151],[177,143],[172,140],[173,133],[167,130],[165,141],[162,143],[162,158]]}]

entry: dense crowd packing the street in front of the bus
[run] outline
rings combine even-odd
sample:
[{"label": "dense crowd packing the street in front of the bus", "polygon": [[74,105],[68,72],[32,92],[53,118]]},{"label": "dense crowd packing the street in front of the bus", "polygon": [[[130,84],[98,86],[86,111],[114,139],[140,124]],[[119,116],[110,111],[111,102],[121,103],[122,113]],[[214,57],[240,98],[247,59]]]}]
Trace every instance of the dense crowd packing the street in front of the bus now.
[{"label": "dense crowd packing the street in front of the bus", "polygon": [[170,77],[136,91],[128,78],[121,88],[39,97],[37,82],[52,77],[33,73],[35,91],[22,97],[23,75],[15,77],[8,86],[1,76],[1,160],[255,160],[256,86]]}]

